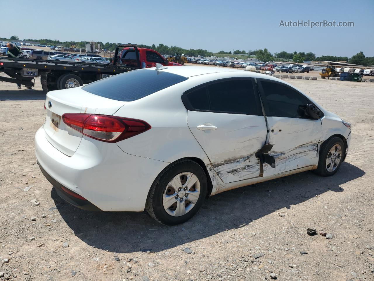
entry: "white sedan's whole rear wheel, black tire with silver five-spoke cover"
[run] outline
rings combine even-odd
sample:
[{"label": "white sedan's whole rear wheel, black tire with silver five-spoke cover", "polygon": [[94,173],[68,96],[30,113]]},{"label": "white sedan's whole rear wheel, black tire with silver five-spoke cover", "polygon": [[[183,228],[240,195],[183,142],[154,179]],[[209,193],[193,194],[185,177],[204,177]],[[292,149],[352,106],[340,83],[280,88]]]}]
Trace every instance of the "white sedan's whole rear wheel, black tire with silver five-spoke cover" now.
[{"label": "white sedan's whole rear wheel, black tire with silver five-spoke cover", "polygon": [[145,209],[159,223],[184,223],[200,209],[206,192],[203,168],[190,159],[177,160],[154,180]]}]

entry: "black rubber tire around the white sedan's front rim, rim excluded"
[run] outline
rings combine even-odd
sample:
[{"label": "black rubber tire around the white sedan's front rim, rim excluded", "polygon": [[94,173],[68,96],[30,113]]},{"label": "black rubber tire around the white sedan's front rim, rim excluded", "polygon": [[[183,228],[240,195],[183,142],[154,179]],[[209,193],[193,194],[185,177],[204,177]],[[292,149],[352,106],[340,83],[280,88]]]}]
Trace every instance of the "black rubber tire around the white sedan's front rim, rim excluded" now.
[{"label": "black rubber tire around the white sedan's front rim, rim excluded", "polygon": [[[335,170],[329,172],[326,167],[326,160],[329,156],[329,151],[334,145],[340,145],[341,147],[341,155],[340,155],[340,162],[338,166],[335,168]],[[339,137],[332,137],[322,143],[321,149],[319,152],[319,160],[318,160],[318,168],[314,170],[314,172],[320,176],[332,176],[334,175],[337,170],[339,169],[341,163],[343,162],[344,158],[346,157],[346,146],[343,142],[343,140]]]}]

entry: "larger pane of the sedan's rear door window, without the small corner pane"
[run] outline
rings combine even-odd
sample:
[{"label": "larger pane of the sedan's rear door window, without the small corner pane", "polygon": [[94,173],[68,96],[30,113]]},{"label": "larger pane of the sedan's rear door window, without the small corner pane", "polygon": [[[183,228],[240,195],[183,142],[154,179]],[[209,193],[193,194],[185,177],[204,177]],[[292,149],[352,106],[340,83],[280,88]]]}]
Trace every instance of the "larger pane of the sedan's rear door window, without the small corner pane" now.
[{"label": "larger pane of the sedan's rear door window, without the small corner pane", "polygon": [[229,80],[208,85],[211,111],[259,114],[251,80]]}]

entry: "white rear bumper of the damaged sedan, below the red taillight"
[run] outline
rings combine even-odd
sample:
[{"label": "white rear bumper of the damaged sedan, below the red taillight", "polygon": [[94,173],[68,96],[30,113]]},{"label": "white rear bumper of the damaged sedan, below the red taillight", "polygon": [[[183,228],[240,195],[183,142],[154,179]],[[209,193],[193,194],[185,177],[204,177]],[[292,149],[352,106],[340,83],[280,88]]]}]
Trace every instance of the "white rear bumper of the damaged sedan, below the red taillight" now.
[{"label": "white rear bumper of the damaged sedan, below the red taillight", "polygon": [[43,127],[35,135],[35,153],[43,174],[62,198],[79,208],[87,203],[73,200],[61,186],[102,211],[144,211],[154,179],[169,164],[127,154],[116,143],[86,136],[69,157],[47,141]]}]

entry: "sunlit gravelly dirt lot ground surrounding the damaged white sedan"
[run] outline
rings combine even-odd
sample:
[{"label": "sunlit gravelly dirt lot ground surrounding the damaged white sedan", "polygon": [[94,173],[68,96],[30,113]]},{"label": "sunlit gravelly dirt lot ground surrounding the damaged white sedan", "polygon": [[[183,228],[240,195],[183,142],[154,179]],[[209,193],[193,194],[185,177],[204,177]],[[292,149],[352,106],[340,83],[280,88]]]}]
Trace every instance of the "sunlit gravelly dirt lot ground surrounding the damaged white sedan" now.
[{"label": "sunlit gravelly dirt lot ground surrounding the damaged white sedan", "polygon": [[[40,82],[35,90],[0,82],[0,280],[374,280],[374,83],[286,81],[352,123],[337,174],[227,191],[175,227],[60,199],[34,154]],[[309,227],[332,239],[308,236]]]}]

